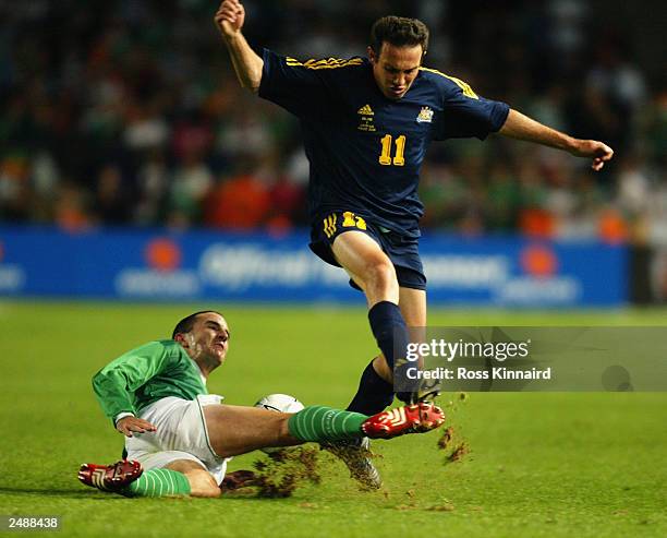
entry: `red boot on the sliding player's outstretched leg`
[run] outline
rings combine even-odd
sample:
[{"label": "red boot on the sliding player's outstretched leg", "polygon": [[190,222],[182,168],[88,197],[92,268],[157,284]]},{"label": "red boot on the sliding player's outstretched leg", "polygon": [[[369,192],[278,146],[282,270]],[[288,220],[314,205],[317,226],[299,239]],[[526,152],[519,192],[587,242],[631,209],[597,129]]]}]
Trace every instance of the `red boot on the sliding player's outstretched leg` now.
[{"label": "red boot on the sliding player's outstretched leg", "polygon": [[371,439],[390,439],[404,433],[423,433],[445,422],[445,414],[437,405],[421,402],[397,407],[368,417],[362,430]]}]

